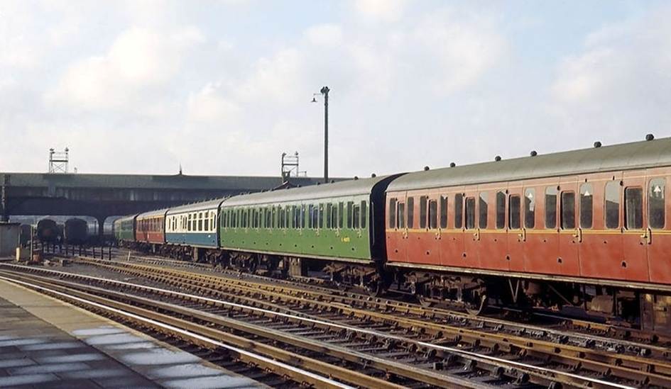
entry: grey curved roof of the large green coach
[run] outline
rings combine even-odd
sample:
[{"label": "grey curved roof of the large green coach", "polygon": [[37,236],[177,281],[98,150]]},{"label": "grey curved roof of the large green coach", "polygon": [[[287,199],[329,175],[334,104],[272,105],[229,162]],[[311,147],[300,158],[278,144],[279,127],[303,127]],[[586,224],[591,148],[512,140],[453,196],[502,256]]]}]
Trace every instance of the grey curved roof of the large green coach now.
[{"label": "grey curved roof of the large green coach", "polygon": [[373,187],[387,177],[388,176],[380,176],[371,179],[354,179],[334,182],[332,184],[306,186],[304,188],[278,189],[276,191],[239,195],[224,201],[223,206],[283,203],[288,201],[317,200],[320,198],[370,194]]}]

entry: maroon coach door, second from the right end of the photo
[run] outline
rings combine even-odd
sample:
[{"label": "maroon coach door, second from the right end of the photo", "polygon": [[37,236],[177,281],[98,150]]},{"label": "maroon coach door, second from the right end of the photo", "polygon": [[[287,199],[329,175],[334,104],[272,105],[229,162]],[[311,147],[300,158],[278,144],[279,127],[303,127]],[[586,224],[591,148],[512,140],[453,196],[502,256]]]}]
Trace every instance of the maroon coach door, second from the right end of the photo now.
[{"label": "maroon coach door, second from the right end of the photo", "polygon": [[559,256],[557,256],[558,274],[579,276],[579,244],[582,242],[582,230],[579,226],[578,185],[575,177],[560,181],[560,230]]}]

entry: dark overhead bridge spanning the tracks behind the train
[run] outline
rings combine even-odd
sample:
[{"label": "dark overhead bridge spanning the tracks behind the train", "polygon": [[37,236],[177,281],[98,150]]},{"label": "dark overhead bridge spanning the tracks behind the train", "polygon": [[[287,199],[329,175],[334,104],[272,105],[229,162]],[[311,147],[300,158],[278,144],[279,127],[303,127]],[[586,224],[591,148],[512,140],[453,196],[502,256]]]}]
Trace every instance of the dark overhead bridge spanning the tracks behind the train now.
[{"label": "dark overhead bridge spanning the tracks behind the train", "polygon": [[[342,179],[335,179],[340,181]],[[134,174],[48,174],[0,172],[0,218],[9,215],[80,215],[104,220],[147,210],[268,191],[308,186],[320,178],[279,176],[187,176]]]}]

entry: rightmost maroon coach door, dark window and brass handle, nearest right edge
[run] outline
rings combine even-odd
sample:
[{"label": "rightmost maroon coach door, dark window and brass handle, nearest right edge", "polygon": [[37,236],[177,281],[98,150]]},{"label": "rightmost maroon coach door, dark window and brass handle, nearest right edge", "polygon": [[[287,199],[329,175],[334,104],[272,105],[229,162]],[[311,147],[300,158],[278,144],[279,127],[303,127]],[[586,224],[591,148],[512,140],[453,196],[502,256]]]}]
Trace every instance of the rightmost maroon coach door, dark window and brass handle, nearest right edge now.
[{"label": "rightmost maroon coach door, dark window and brass handle, nearest right edge", "polygon": [[624,227],[622,235],[623,260],[618,266],[622,276],[629,281],[648,281],[648,245],[652,242],[644,210],[648,203],[645,196],[645,178],[642,171],[625,171]]}]

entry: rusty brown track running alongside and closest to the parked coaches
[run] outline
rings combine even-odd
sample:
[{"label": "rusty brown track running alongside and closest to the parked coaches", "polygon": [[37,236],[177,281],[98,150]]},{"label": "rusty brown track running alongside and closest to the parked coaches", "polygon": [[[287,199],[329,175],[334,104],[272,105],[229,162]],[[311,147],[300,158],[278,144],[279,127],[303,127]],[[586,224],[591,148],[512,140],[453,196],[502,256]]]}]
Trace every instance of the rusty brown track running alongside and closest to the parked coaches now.
[{"label": "rusty brown track running alongside and closest to the parked coaches", "polygon": [[[104,266],[107,261],[84,259],[88,263]],[[170,262],[169,262],[170,263]],[[388,300],[383,298],[371,298],[369,295],[358,293],[347,293],[320,286],[303,285],[296,286],[288,282],[275,282],[268,278],[249,277],[246,274],[234,274],[236,278],[223,277],[214,274],[195,274],[191,271],[182,272],[174,269],[165,269],[160,266],[156,259],[151,259],[152,266],[143,266],[122,262],[126,271],[133,269],[139,271],[134,273],[139,276],[149,274],[160,274],[175,276],[174,281],[188,280],[198,286],[214,286],[217,284],[234,285],[246,288],[245,291],[261,288],[268,293],[274,293],[273,297],[282,298],[283,295],[291,295],[296,298],[317,300],[326,303],[339,303],[349,307],[361,309],[375,309],[378,312],[401,315],[405,318],[415,320],[430,320],[440,325],[451,325],[460,328],[471,328],[478,331],[489,331],[496,334],[508,334],[511,336],[522,336],[548,342],[563,344],[565,346],[577,346],[589,349],[598,349],[606,353],[626,354],[629,356],[649,357],[671,362],[671,342],[668,339],[662,342],[660,339],[651,339],[650,334],[640,334],[632,329],[622,329],[599,323],[584,322],[581,320],[564,320],[559,328],[541,327],[519,324],[508,320],[499,320],[490,317],[472,317],[470,315],[444,310],[440,308],[426,308],[420,305]],[[258,279],[258,281],[255,280]],[[270,281],[270,282],[269,282]],[[439,330],[440,331],[440,330]],[[655,344],[656,342],[656,344]]]}]

